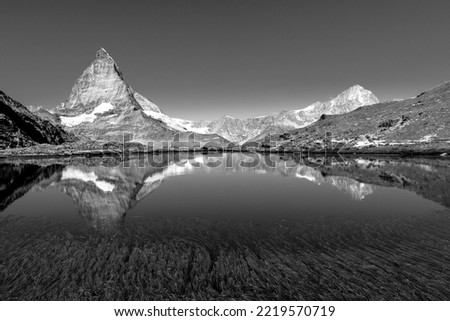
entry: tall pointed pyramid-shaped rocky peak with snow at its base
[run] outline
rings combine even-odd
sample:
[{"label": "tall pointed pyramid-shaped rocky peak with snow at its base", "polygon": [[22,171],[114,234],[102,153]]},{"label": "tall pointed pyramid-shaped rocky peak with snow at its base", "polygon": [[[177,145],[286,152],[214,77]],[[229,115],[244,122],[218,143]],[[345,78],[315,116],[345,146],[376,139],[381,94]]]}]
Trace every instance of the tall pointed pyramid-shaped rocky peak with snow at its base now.
[{"label": "tall pointed pyramid-shaped rocky peak with snow at its base", "polygon": [[56,111],[63,126],[81,126],[78,128],[92,130],[93,134],[111,123],[113,126],[110,128],[120,127],[126,122],[135,125],[139,121],[152,125],[153,122],[148,117],[144,120],[141,113],[150,117],[161,114],[158,106],[127,84],[116,62],[104,48],[96,52],[94,61],[75,81],[69,98]]}]

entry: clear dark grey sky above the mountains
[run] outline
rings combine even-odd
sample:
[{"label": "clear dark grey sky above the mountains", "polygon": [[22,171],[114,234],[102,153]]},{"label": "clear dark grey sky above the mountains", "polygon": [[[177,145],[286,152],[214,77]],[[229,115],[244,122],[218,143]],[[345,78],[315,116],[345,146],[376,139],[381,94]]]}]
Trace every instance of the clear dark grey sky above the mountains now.
[{"label": "clear dark grey sky above the mountains", "polygon": [[104,47],[166,114],[251,117],[359,84],[380,100],[450,80],[449,1],[2,0],[0,90],[68,98]]}]

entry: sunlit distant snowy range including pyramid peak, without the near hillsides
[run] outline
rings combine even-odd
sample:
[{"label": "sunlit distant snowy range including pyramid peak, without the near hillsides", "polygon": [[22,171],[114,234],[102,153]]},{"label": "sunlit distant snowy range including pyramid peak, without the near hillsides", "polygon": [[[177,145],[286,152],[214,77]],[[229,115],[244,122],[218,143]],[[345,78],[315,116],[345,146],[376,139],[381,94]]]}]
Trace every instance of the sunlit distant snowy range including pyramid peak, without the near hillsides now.
[{"label": "sunlit distant snowy range including pyramid peak, without the near hillsides", "polygon": [[246,119],[223,116],[213,121],[173,118],[136,92],[124,80],[114,59],[101,48],[75,82],[67,101],[55,108],[30,109],[78,136],[97,140],[120,140],[124,132],[129,132],[134,141],[168,141],[177,132],[193,132],[204,139],[221,136],[243,143],[265,133],[306,126],[324,113],[344,113],[376,102],[373,93],[356,85],[327,102],[270,116]]}]

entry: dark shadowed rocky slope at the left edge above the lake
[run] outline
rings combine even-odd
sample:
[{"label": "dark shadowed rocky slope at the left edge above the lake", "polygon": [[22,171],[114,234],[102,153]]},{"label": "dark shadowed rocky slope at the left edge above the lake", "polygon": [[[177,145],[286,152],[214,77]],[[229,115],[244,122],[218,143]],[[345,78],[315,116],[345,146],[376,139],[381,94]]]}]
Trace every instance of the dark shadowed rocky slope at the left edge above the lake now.
[{"label": "dark shadowed rocky slope at the left edge above the lake", "polygon": [[75,140],[60,126],[33,115],[21,103],[0,91],[0,149],[35,144],[59,145]]}]

